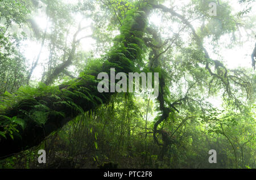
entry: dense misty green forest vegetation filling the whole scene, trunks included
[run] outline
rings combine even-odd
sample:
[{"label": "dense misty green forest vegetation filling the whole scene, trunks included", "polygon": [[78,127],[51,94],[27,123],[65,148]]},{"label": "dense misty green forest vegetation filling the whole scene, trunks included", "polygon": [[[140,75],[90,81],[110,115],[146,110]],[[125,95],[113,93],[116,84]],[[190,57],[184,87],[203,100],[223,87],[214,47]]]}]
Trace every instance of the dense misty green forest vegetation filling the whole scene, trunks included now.
[{"label": "dense misty green forest vegetation filling the whole scene, trunks included", "polygon": [[[254,50],[255,1],[236,3],[0,0],[0,168],[255,168],[256,74],[221,54]],[[159,96],[98,92],[110,68],[158,72]]]}]

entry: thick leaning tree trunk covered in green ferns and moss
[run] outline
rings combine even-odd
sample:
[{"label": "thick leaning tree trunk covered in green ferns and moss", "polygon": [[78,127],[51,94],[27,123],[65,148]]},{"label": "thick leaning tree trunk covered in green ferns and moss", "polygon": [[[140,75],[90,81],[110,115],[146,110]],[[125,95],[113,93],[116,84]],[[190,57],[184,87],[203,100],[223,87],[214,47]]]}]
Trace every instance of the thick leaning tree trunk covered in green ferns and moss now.
[{"label": "thick leaning tree trunk covered in green ferns and moss", "polygon": [[42,142],[51,132],[63,127],[83,112],[109,101],[113,93],[97,91],[97,75],[108,72],[133,72],[142,63],[143,32],[150,6],[138,5],[123,20],[121,35],[106,59],[97,59],[79,78],[58,87],[20,88],[14,95],[2,95],[0,109],[0,157],[24,151]]}]

